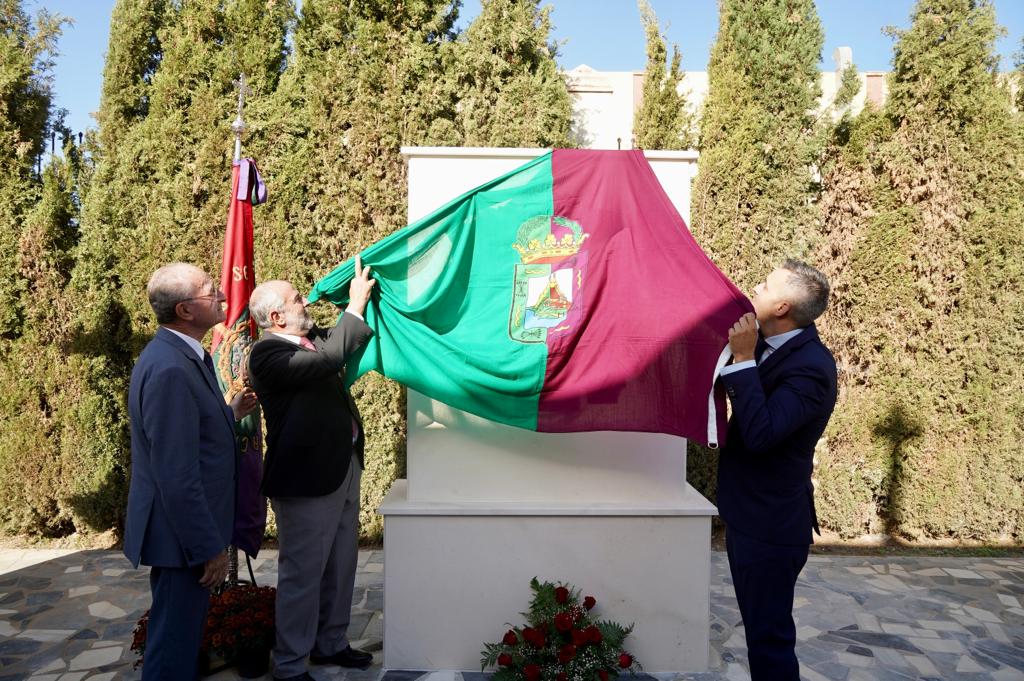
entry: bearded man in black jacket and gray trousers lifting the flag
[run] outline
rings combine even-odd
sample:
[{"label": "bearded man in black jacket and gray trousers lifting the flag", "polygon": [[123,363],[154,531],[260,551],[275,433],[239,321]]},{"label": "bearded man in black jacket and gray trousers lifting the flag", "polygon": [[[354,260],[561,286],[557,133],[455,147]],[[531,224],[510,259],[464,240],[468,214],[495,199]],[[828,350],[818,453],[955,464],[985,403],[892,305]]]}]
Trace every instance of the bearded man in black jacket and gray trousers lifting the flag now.
[{"label": "bearded man in black jacket and gray trousers lifting the flag", "polygon": [[311,681],[314,665],[367,667],[348,641],[358,552],[362,425],[342,379],[373,332],[362,320],[375,284],[355,258],[349,303],[330,330],[313,326],[288,282],[265,282],[249,299],[263,336],[249,378],[266,418],[262,492],[278,520],[274,678]]}]

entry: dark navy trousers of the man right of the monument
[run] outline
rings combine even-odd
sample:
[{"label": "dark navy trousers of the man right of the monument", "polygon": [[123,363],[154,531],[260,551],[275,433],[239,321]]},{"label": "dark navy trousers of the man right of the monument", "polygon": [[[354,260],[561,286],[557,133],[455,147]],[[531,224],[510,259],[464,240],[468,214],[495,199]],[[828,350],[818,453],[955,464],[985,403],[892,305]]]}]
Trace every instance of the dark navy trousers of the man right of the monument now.
[{"label": "dark navy trousers of the man right of the monument", "polygon": [[725,548],[746,633],[752,681],[800,681],[793,594],[807,545],[767,544],[726,528]]}]

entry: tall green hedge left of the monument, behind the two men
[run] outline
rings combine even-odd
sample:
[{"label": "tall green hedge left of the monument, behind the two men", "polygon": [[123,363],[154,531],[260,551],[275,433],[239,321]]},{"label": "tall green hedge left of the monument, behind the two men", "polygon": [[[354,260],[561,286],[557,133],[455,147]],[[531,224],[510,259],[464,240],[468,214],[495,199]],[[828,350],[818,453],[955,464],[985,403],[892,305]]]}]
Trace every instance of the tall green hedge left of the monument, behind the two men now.
[{"label": "tall green hedge left of the monument, behind the two men", "polygon": [[[24,43],[0,42],[4,76],[19,69],[0,81],[14,84],[0,92],[10,142],[0,155],[24,147],[0,156],[0,173],[16,180],[0,181],[0,239],[10,241],[0,259],[0,525],[120,528],[127,379],[155,330],[144,284],[172,260],[219,272],[240,72],[252,90],[246,154],[271,197],[254,218],[257,276],[306,288],[404,224],[399,146],[571,144],[550,10],[538,5],[486,0],[459,33],[450,0],[304,0],[301,16],[285,0],[119,0],[85,161],[71,146],[69,162],[37,175],[57,120],[45,79],[59,20],[33,28],[19,2],[0,0]],[[331,310],[316,312],[330,322]],[[368,431],[360,520],[374,540],[375,509],[404,472],[404,393],[379,376],[353,392]]]}]

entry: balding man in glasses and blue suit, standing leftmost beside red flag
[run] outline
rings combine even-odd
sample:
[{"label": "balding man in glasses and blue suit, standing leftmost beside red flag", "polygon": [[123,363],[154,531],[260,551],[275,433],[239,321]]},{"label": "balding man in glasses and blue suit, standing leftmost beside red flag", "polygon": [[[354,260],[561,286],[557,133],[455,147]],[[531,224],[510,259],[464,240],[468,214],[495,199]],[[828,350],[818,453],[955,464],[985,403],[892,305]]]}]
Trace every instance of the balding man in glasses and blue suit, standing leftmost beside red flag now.
[{"label": "balding man in glasses and blue suit, standing leftmost beside red flag", "polygon": [[200,268],[161,267],[146,287],[160,328],[131,374],[131,485],[125,555],[151,565],[142,679],[193,679],[210,589],[227,573],[234,514],[234,422],[252,390],[224,403],[202,340],[224,294]]}]

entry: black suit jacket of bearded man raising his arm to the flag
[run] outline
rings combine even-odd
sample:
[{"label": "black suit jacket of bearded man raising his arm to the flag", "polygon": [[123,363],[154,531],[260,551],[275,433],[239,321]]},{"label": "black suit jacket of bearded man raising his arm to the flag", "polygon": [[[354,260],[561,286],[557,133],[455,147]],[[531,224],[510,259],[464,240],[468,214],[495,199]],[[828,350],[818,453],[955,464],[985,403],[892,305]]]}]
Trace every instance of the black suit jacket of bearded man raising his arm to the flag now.
[{"label": "black suit jacket of bearded man raising his arm to the flag", "polygon": [[253,344],[249,380],[266,419],[265,496],[329,495],[344,481],[353,453],[362,467],[362,422],[341,371],[372,335],[357,316],[342,314],[332,329],[307,334],[316,351],[272,333]]}]

